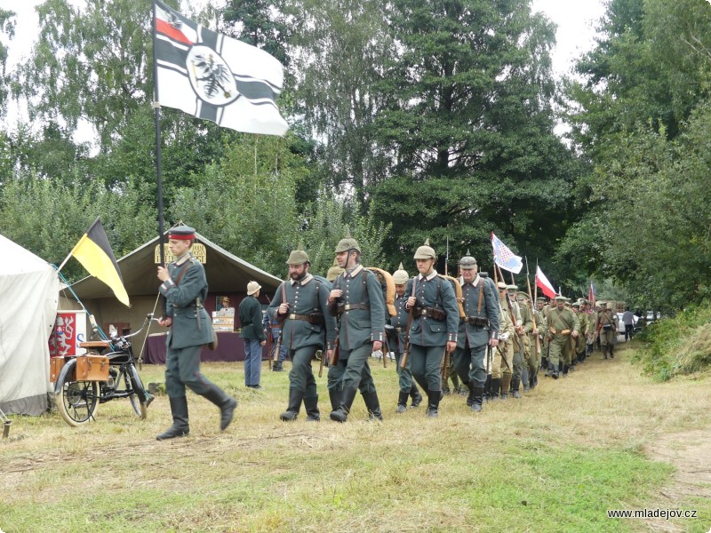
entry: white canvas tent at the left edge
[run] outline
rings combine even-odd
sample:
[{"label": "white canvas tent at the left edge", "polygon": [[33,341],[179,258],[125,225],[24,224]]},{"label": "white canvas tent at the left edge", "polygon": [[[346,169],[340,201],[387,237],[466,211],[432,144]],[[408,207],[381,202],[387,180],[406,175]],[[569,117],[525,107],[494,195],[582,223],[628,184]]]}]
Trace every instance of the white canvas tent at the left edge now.
[{"label": "white canvas tent at the left edge", "polygon": [[52,265],[0,235],[0,410],[47,410],[50,353],[60,282]]}]

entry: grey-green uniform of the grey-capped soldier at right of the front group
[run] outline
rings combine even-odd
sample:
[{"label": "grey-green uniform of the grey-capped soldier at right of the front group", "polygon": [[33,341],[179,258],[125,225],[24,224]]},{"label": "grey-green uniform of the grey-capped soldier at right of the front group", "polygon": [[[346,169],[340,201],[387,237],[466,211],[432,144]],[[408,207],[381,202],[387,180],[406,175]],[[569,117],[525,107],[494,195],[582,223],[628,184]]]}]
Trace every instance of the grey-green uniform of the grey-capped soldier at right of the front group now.
[{"label": "grey-green uniform of the grey-capped soldier at right of the front group", "polygon": [[471,283],[460,277],[459,284],[466,316],[459,320],[454,367],[465,385],[483,387],[489,339],[499,335],[499,295],[479,274]]}]

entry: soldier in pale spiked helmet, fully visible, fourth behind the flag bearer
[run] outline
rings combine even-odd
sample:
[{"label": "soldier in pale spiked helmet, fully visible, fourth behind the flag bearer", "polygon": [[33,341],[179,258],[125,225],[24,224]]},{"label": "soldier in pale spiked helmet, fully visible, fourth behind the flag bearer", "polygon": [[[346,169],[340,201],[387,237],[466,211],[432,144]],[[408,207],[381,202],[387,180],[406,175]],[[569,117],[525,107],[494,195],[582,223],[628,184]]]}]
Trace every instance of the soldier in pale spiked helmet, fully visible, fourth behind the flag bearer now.
[{"label": "soldier in pale spiked helmet, fully visible, fourth behind the flag bearer", "polygon": [[427,389],[427,417],[435,418],[442,399],[444,350],[451,353],[457,347],[459,308],[451,282],[435,271],[437,256],[428,241],[415,251],[414,259],[419,274],[405,289],[405,308],[412,309],[408,332],[412,377]]}]

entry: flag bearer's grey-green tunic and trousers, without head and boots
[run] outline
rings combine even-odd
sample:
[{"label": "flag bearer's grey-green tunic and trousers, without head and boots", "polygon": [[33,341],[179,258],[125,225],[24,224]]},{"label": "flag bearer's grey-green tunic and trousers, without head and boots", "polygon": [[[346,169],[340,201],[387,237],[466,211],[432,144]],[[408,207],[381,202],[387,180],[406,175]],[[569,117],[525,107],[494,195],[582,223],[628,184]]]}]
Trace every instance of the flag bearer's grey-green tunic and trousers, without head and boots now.
[{"label": "flag bearer's grey-green tunic and trousers, without head and boots", "polygon": [[200,352],[213,335],[212,319],[203,307],[207,297],[204,267],[188,252],[168,265],[168,274],[170,279],[159,288],[165,297],[165,315],[172,318],[165,340],[165,391],[179,398],[188,386],[204,396],[214,387],[200,373]]}]

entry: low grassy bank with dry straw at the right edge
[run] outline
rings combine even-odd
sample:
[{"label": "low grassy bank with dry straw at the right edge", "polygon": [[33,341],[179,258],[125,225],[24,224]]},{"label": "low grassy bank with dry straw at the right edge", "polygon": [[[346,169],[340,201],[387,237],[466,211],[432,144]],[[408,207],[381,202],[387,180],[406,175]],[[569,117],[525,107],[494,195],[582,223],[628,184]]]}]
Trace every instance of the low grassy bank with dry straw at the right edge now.
[{"label": "low grassy bank with dry straw at the right edge", "polygon": [[661,318],[643,330],[638,361],[658,381],[711,367],[711,303],[691,305],[673,318]]}]

